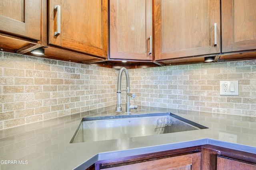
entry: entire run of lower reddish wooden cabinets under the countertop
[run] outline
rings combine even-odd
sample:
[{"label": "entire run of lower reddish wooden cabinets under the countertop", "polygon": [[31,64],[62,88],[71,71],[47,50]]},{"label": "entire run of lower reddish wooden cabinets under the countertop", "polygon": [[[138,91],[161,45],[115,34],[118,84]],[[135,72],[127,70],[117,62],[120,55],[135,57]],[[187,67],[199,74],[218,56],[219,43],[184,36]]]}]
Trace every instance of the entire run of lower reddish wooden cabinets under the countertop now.
[{"label": "entire run of lower reddish wooden cabinets under the countertop", "polygon": [[100,160],[86,170],[256,170],[256,154],[202,145]]}]

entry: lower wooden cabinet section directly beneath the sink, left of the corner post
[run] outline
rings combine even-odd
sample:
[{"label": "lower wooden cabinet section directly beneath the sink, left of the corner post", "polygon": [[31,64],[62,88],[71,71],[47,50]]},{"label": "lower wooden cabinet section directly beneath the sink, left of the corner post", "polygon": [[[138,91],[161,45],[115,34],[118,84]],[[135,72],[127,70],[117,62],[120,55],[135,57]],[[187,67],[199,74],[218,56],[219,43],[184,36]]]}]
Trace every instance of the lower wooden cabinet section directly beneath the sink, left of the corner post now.
[{"label": "lower wooden cabinet section directly beneath the sink, left of the corner post", "polygon": [[128,156],[112,160],[101,160],[88,170],[199,170],[201,168],[200,147],[167,150],[150,154]]}]

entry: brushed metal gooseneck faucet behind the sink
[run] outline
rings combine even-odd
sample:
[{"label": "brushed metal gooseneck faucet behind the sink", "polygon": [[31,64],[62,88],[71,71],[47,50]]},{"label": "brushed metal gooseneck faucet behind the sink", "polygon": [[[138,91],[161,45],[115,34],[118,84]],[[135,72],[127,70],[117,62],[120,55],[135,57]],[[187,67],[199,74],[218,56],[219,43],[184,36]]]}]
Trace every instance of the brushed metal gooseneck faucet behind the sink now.
[{"label": "brushed metal gooseneck faucet behind the sink", "polygon": [[[126,75],[126,90],[121,90],[121,79],[122,79],[122,73],[125,72]],[[135,94],[130,93],[130,82],[129,82],[129,74],[126,68],[121,68],[118,73],[118,82],[117,82],[117,92],[116,92],[116,111],[122,111],[121,106],[121,92],[126,91],[126,113],[131,113],[131,109],[137,109],[137,105],[130,105],[130,97],[132,99],[136,96]]]}]

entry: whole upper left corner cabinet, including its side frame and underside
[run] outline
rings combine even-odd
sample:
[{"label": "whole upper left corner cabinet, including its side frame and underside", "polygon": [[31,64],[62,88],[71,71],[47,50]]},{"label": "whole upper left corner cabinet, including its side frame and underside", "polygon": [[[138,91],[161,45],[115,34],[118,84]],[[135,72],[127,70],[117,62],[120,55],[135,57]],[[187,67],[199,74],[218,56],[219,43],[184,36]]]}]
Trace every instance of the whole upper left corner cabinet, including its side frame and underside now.
[{"label": "whole upper left corner cabinet, including its side frame and underside", "polygon": [[[42,46],[45,0],[0,1],[0,47],[26,53]],[[44,11],[45,12],[45,11]]]}]

